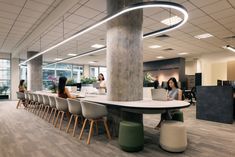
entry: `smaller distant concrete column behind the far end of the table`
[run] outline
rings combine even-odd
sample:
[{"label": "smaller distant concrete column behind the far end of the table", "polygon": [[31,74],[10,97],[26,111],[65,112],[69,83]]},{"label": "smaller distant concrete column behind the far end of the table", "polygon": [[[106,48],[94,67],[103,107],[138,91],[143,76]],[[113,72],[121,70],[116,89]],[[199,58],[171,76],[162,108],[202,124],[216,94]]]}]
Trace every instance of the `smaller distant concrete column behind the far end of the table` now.
[{"label": "smaller distant concrete column behind the far end of the table", "polygon": [[[35,51],[28,51],[27,58],[37,53]],[[42,90],[42,55],[27,63],[27,90]]]}]

